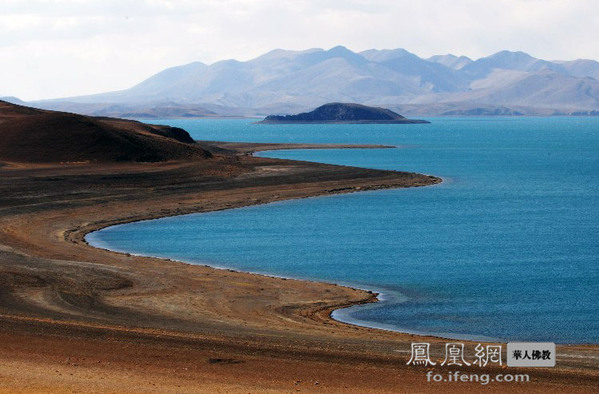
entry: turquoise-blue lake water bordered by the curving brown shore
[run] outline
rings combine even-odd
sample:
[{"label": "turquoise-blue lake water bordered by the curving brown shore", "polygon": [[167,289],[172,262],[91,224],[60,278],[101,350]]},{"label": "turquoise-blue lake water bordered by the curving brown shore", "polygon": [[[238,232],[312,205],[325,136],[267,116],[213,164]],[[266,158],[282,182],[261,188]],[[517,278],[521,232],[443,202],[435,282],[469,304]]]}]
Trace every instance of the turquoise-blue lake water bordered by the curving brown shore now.
[{"label": "turquoise-blue lake water bordered by the curving brown shore", "polygon": [[335,313],[359,324],[452,338],[599,343],[599,119],[432,121],[159,121],[204,140],[393,144],[401,148],[261,155],[445,182],[132,223],[88,241],[381,291],[380,303]]}]

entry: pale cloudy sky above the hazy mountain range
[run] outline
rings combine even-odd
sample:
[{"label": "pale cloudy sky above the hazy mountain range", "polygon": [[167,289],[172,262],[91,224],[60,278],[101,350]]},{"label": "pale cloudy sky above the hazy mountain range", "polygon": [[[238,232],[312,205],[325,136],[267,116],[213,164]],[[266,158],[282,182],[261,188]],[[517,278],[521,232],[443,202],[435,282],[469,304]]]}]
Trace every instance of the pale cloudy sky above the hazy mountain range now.
[{"label": "pale cloudy sky above the hazy mountain range", "polygon": [[121,90],[277,48],[599,60],[597,26],[597,0],[0,0],[0,97]]}]

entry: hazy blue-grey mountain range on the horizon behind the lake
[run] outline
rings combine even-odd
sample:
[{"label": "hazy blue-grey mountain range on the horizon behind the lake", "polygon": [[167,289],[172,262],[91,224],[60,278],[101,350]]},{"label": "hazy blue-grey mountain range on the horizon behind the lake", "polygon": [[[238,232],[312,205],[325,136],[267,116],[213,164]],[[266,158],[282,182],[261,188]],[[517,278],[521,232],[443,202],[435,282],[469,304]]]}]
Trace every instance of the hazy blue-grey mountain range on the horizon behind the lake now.
[{"label": "hazy blue-grey mountain range on the horizon behind the lake", "polygon": [[196,117],[292,114],[334,101],[406,115],[593,115],[599,62],[510,51],[472,60],[423,59],[405,49],[277,49],[246,62],[172,67],[122,91],[28,104],[102,116]]}]

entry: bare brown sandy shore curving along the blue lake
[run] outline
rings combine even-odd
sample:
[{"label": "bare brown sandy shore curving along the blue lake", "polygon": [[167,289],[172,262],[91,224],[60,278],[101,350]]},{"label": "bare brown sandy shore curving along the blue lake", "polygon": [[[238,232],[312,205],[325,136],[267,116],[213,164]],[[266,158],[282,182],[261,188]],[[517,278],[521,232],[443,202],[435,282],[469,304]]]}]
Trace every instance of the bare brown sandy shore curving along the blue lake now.
[{"label": "bare brown sandy shore curving along the blue lake", "polygon": [[446,340],[331,319],[336,308],[376,301],[370,292],[84,241],[135,220],[440,182],[251,156],[300,146],[206,146],[222,157],[0,166],[0,392],[596,391],[594,345],[559,346],[556,368],[459,368],[526,373],[527,383],[429,383],[425,367],[406,365],[410,344],[430,342],[442,359]]}]

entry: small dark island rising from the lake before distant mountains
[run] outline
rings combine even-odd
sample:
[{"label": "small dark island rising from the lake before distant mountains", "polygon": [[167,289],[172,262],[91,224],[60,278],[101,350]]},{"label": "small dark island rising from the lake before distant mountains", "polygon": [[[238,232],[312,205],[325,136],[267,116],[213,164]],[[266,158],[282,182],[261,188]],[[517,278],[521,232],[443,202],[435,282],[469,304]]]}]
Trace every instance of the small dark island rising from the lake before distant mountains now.
[{"label": "small dark island rising from the lake before distant mountains", "polygon": [[270,115],[257,123],[415,124],[430,122],[408,119],[385,108],[354,103],[329,103],[316,108],[312,112],[304,112],[298,115]]}]

